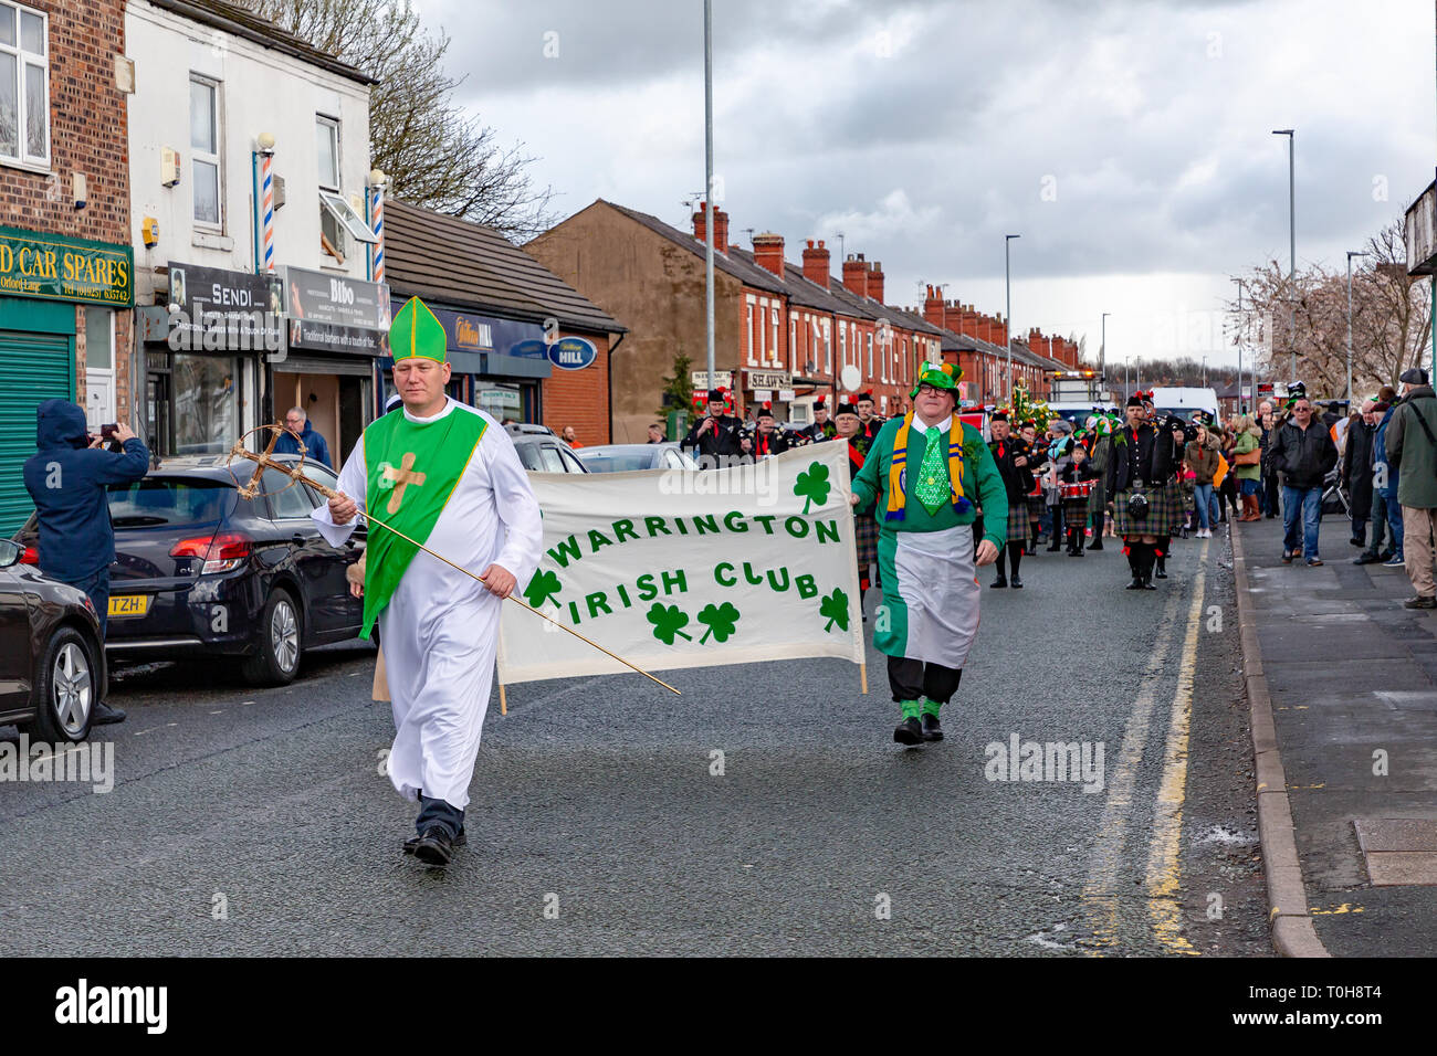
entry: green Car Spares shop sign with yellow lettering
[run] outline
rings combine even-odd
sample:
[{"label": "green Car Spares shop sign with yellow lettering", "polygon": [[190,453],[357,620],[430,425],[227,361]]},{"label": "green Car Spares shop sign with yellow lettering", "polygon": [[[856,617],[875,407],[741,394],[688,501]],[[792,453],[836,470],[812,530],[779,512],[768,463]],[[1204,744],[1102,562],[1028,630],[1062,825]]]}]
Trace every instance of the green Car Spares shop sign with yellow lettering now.
[{"label": "green Car Spares shop sign with yellow lettering", "polygon": [[135,253],[108,241],[0,227],[0,296],[129,307]]}]

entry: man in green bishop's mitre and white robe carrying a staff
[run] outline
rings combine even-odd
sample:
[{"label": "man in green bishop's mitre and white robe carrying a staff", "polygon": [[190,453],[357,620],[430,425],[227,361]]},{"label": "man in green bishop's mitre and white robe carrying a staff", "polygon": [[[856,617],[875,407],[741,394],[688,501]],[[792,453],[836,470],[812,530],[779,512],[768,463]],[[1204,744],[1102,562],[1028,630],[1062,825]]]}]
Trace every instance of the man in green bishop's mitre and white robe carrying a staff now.
[{"label": "man in green bishop's mitre and white robe carrying a staff", "polygon": [[333,546],[355,529],[358,510],[395,529],[369,524],[361,635],[378,621],[395,727],[385,766],[394,787],[421,805],[404,851],[430,865],[447,865],[466,842],[500,606],[533,575],[543,540],[539,503],[509,434],[444,394],[447,343],[418,297],[395,315],[389,352],[404,407],[365,428],[339,471],[339,497],[313,513]]}]

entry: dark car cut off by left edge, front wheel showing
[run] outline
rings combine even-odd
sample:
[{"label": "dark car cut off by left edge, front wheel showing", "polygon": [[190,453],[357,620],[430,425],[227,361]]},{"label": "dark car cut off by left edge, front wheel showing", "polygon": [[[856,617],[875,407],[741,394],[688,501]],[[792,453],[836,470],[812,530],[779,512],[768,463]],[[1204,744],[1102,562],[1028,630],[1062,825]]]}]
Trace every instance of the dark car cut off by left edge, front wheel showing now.
[{"label": "dark car cut off by left edge, front wheel showing", "polygon": [[82,741],[108,687],[99,621],[83,590],[22,556],[19,543],[0,539],[0,726]]}]

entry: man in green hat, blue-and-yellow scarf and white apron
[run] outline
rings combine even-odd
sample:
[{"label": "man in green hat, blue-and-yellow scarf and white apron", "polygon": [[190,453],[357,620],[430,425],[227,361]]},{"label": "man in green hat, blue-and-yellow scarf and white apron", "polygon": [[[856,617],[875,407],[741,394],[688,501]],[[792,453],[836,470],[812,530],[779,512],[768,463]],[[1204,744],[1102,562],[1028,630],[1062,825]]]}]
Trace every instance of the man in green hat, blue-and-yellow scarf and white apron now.
[{"label": "man in green hat, blue-and-yellow scarf and white apron", "polygon": [[[1007,530],[1007,493],[983,435],[954,408],[963,371],[923,363],[914,409],[874,437],[854,478],[854,506],[878,520],[884,603],[874,647],[902,708],[900,744],[943,740],[938,708],[958,688],[979,629],[979,565],[992,565]],[[984,537],[973,546],[983,507]]]}]

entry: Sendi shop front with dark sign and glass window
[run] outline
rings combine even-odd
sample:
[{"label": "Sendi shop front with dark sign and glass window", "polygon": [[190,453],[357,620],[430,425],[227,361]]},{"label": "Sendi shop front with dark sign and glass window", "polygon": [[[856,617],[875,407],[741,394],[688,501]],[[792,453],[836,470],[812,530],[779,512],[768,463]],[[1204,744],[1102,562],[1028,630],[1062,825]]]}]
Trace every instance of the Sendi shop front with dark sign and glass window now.
[{"label": "Sendi shop front with dark sign and glass window", "polygon": [[263,417],[283,348],[277,280],[171,260],[168,305],[138,310],[145,431],[158,455],[220,454]]}]

